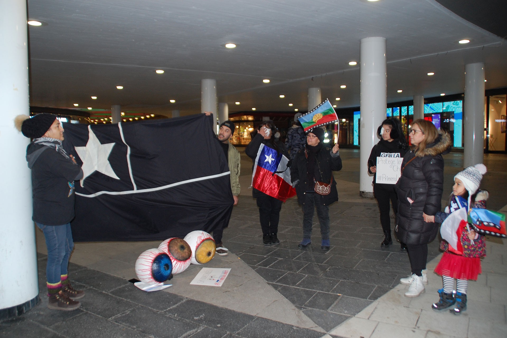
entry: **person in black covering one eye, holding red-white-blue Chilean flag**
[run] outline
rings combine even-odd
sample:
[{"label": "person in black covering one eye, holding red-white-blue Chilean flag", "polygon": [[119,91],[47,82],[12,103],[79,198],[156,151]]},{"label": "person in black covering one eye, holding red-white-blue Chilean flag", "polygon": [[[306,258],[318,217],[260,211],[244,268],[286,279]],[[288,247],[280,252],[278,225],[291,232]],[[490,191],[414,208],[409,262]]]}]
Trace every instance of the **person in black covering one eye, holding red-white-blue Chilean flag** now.
[{"label": "person in black covering one eye, holding red-white-blue Chilean flag", "polygon": [[[279,154],[283,154],[288,158],[288,152],[283,142],[279,139],[275,139],[274,135],[276,132],[277,129],[275,124],[271,120],[259,126],[258,133],[245,148],[245,154],[252,159],[253,165],[255,165],[255,159],[257,158],[257,152],[261,144],[275,149]],[[278,244],[280,243],[277,237],[278,221],[280,219],[282,201],[266,195],[255,188],[252,189],[252,196],[257,199],[257,206],[259,207],[259,220],[261,222],[263,234],[262,241],[264,245]]]}]

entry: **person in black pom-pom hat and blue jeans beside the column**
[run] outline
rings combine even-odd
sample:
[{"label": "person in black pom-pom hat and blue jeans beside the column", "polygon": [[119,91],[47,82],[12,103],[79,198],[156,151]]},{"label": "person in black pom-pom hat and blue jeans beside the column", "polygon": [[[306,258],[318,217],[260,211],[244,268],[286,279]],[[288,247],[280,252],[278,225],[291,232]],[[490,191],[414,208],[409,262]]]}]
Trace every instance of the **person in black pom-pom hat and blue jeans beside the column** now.
[{"label": "person in black pom-pom hat and blue jeans beside the column", "polygon": [[67,279],[67,267],[74,241],[70,221],[74,218],[74,181],[83,178],[83,170],[63,147],[63,128],[53,114],[32,118],[16,117],[16,126],[24,136],[33,138],[26,148],[31,169],[33,216],[44,233],[48,248],[46,278],[48,308],[75,310],[85,292],[74,289]]}]

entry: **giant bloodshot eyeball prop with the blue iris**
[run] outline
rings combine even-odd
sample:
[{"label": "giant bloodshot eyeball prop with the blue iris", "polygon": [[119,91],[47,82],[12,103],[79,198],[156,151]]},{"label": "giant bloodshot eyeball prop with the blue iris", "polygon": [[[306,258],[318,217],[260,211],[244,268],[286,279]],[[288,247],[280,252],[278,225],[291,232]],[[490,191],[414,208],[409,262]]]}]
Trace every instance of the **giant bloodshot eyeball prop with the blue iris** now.
[{"label": "giant bloodshot eyeball prop with the blue iris", "polygon": [[135,274],[144,283],[163,283],[172,272],[171,258],[160,249],[148,249],[135,261]]}]

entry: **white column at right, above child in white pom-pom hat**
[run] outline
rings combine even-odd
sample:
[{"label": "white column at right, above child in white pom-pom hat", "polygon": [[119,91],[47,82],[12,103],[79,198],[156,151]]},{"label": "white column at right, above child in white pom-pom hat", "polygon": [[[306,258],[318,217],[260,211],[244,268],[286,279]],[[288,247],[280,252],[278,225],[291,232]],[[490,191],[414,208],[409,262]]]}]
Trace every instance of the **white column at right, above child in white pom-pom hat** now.
[{"label": "white column at right, above child in white pom-pom hat", "polygon": [[463,135],[463,167],[483,163],[484,63],[465,65]]}]

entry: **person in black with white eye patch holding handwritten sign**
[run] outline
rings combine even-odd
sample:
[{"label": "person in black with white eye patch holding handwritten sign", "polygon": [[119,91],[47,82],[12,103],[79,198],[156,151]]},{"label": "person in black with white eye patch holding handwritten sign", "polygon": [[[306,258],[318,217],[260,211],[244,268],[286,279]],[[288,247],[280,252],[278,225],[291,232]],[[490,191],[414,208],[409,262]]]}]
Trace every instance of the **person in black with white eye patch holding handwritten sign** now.
[{"label": "person in black with white eye patch holding handwritten sign", "polygon": [[[392,244],[389,201],[391,201],[392,209],[396,215],[398,198],[394,192],[394,184],[375,183],[377,178],[377,157],[403,158],[407,152],[408,144],[403,133],[402,124],[396,118],[384,120],[377,129],[377,135],[381,139],[372,148],[368,159],[368,172],[373,174],[373,194],[379,206],[380,223],[384,232],[384,240],[380,243],[380,246],[387,248]],[[402,248],[405,247],[403,243],[401,245]]]}]

